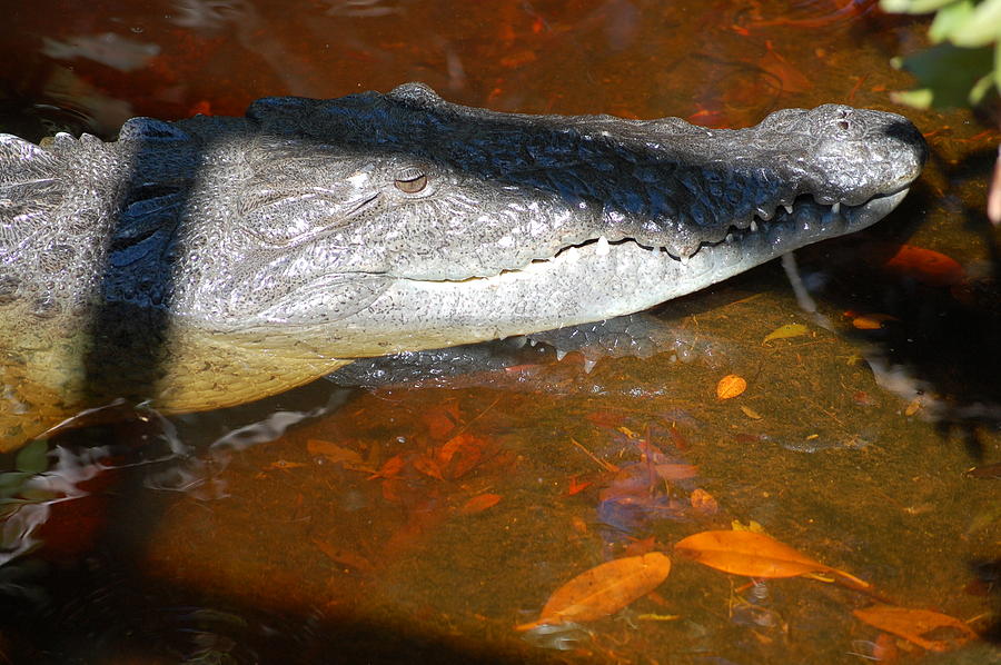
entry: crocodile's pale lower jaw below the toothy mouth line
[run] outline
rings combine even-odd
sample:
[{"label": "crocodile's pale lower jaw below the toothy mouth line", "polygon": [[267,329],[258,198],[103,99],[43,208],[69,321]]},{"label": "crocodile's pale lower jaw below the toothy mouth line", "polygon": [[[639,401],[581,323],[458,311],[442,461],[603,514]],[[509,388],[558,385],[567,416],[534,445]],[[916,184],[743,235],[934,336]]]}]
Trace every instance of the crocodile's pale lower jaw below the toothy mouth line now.
[{"label": "crocodile's pale lower jaw below the toothy mouth line", "polygon": [[[756,230],[735,231],[680,259],[632,240],[598,239],[519,270],[462,281],[396,279],[365,310],[314,328],[339,357],[438,348],[578,325],[640,311],[743,272],[824,238],[883,218],[903,189],[861,206],[799,201]],[[244,332],[250,332],[245,330]]]}]

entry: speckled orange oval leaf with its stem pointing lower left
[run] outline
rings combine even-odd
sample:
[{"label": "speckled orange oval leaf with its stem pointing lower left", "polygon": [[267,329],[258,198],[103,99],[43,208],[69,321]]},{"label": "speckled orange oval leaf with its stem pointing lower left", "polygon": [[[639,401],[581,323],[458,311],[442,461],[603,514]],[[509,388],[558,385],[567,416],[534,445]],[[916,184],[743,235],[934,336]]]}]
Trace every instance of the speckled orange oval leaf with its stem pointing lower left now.
[{"label": "speckled orange oval leaf with its stem pointing lower left", "polygon": [[671,572],[662,552],[604,563],[577,575],[549,596],[538,621],[517,626],[531,631],[543,624],[589,622],[618,612],[657,586]]}]

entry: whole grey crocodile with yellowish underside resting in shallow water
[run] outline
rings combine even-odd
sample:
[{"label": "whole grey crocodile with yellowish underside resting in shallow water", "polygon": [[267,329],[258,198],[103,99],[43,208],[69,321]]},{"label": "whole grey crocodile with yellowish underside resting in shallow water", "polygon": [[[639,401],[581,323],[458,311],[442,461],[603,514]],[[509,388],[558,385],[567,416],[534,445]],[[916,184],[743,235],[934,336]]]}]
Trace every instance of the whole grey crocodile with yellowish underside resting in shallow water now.
[{"label": "whole grey crocodile with yellowish underside resting in shallow water", "polygon": [[875,222],[925,157],[905,118],[846,106],[708,129],[422,83],[0,135],[0,448],[116,400],[221,408],[640,311]]}]

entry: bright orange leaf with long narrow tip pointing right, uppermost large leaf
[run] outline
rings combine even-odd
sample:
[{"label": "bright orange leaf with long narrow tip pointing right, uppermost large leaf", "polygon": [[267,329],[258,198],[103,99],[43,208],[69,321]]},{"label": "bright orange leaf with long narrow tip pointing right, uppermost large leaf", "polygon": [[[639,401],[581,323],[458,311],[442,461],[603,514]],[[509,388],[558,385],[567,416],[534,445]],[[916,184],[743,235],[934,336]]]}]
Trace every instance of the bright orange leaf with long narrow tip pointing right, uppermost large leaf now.
[{"label": "bright orange leaf with long narrow tip pointing right, uppermost large leaf", "polygon": [[724,573],[749,577],[795,577],[807,573],[832,573],[862,588],[866,582],[832,568],[771,536],[754,532],[702,532],[683,538],[674,549],[700,564]]}]

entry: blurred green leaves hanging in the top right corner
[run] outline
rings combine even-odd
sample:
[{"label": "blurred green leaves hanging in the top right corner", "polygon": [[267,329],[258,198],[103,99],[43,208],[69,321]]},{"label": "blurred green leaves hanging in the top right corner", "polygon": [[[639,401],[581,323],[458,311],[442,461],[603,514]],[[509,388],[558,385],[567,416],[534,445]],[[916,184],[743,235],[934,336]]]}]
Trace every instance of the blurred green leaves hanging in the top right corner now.
[{"label": "blurred green leaves hanging in the top right corner", "polygon": [[935,12],[928,30],[935,46],[895,64],[920,88],[896,100],[918,108],[977,106],[1001,90],[1001,0],[880,0],[895,13]]}]

